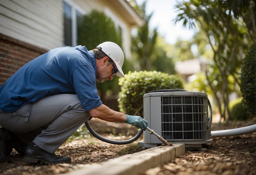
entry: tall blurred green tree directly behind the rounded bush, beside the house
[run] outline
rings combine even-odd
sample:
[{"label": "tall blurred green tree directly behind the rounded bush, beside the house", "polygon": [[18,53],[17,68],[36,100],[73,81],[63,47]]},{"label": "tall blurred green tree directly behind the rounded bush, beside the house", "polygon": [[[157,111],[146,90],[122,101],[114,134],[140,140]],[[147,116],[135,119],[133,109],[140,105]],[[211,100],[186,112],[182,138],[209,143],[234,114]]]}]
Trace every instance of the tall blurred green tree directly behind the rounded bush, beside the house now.
[{"label": "tall blurred green tree directly behind the rounded bush, beside the house", "polygon": [[[153,12],[146,14],[146,1],[138,6],[135,0],[129,1],[131,6],[144,19],[144,25],[137,29],[132,37],[133,62],[135,70],[161,71],[174,74],[174,62],[170,54],[167,54],[165,41],[158,36],[157,28],[153,30],[149,27],[149,22]],[[167,45],[167,44],[165,44]]]}]

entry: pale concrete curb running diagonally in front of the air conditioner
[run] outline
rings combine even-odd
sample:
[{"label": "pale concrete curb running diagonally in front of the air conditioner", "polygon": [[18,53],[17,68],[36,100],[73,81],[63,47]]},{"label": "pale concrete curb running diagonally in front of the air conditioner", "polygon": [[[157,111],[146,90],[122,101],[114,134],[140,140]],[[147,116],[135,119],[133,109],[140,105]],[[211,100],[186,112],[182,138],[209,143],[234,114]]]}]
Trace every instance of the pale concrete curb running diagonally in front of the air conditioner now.
[{"label": "pale concrete curb running diagonally in front of the air conditioner", "polygon": [[85,164],[62,175],[138,175],[150,168],[170,162],[185,153],[185,145],[158,146],[138,153],[127,154],[98,164]]}]

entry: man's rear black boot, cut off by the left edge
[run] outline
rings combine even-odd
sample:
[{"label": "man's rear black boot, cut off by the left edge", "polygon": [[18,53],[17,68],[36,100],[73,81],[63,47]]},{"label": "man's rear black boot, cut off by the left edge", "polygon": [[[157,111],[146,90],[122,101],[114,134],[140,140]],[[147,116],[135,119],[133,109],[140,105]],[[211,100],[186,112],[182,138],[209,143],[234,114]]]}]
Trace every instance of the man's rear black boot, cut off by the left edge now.
[{"label": "man's rear black boot, cut off by the left edge", "polygon": [[11,163],[9,154],[12,153],[12,133],[0,128],[0,163]]}]

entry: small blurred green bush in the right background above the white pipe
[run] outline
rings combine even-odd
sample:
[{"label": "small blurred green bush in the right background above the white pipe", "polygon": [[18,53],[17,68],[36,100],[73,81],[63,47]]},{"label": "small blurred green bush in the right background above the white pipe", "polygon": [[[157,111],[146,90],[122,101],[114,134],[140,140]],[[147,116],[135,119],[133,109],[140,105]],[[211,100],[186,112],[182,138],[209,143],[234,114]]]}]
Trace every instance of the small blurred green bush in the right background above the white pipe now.
[{"label": "small blurred green bush in the right background above the white pipe", "polygon": [[231,110],[231,120],[242,121],[248,119],[248,114],[244,109],[241,99],[242,98],[238,98],[230,102],[229,108]]}]

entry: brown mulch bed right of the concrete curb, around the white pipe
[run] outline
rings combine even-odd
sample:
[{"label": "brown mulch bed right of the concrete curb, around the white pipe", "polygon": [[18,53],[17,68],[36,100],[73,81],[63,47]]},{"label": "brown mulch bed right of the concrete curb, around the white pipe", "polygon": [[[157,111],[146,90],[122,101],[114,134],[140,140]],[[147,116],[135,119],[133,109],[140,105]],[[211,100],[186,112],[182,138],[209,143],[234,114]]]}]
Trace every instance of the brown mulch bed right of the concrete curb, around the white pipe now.
[{"label": "brown mulch bed right of the concrete curb, around the white pipe", "polygon": [[[256,120],[213,124],[212,131],[255,124]],[[256,132],[213,138],[201,150],[187,150],[141,175],[256,175]]]}]

